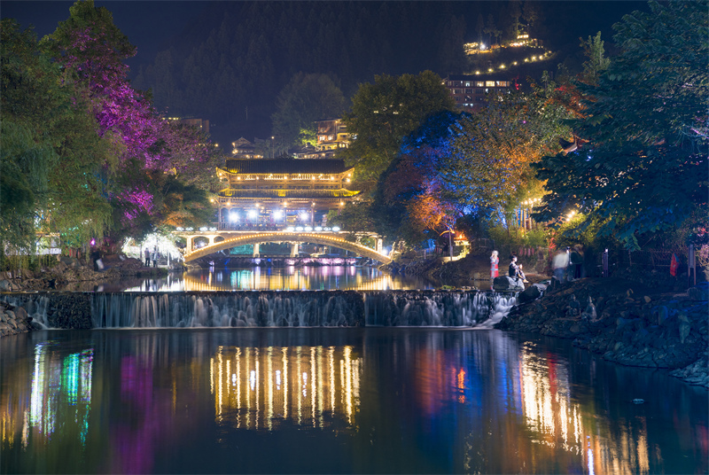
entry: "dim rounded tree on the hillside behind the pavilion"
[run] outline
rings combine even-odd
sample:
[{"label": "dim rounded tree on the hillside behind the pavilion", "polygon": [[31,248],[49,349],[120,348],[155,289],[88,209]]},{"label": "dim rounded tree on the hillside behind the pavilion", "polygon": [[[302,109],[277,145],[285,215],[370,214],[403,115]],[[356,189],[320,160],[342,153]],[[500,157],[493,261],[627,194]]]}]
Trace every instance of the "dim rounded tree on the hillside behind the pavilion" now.
[{"label": "dim rounded tree on the hillside behind the pavilion", "polygon": [[339,119],[345,96],[327,74],[294,74],[276,98],[271,116],[278,151],[285,151],[316,131],[316,121]]}]

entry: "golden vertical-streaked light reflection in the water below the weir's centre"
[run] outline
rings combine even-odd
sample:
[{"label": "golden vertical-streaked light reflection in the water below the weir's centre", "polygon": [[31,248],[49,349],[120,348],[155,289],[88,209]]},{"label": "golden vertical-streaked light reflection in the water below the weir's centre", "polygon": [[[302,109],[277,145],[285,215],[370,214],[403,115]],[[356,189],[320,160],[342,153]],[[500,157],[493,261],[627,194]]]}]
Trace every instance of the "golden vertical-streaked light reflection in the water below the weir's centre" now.
[{"label": "golden vertical-streaked light reflection in the water below the weir's centre", "polygon": [[210,360],[218,424],[273,431],[280,422],[354,426],[362,360],[352,347],[220,347]]}]

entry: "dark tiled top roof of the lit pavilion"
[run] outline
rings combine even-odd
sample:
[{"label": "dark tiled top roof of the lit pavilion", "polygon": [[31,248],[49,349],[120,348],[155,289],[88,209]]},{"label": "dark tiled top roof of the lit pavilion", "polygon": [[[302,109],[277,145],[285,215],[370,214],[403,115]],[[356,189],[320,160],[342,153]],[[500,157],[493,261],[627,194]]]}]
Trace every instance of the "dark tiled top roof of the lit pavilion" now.
[{"label": "dark tiled top roof of the lit pavilion", "polygon": [[260,174],[331,174],[345,173],[352,167],[345,160],[332,159],[229,159],[224,171],[241,175]]}]

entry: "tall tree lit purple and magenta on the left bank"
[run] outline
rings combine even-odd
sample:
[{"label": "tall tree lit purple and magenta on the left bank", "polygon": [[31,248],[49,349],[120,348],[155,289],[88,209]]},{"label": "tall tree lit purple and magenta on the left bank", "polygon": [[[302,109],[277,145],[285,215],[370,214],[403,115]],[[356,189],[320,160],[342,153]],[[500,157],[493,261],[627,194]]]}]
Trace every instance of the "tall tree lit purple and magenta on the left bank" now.
[{"label": "tall tree lit purple and magenta on the left bank", "polygon": [[93,0],[77,1],[69,12],[41,46],[62,66],[62,81],[76,90],[77,102],[88,104],[98,136],[112,150],[103,175],[113,227],[123,234],[160,225],[154,172],[200,183],[199,166],[208,170],[214,149],[199,129],[166,121],[150,97],[130,86],[123,61],[136,54],[136,47],[113,24],[111,12]]}]

